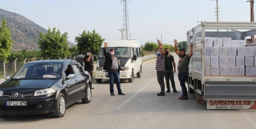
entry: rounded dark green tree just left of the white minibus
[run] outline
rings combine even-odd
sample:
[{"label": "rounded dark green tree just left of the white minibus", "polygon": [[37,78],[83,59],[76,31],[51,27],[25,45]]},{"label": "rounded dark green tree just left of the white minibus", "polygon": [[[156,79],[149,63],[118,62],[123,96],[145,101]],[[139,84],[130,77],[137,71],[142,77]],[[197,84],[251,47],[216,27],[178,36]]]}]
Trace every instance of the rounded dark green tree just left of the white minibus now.
[{"label": "rounded dark green tree just left of the white minibus", "polygon": [[81,51],[82,53],[86,53],[86,51],[89,49],[91,50],[92,55],[98,55],[101,44],[103,43],[105,39],[101,38],[101,35],[99,33],[96,33],[95,30],[92,32],[90,31],[83,31],[82,34],[75,37],[75,42],[77,43],[78,51]]}]

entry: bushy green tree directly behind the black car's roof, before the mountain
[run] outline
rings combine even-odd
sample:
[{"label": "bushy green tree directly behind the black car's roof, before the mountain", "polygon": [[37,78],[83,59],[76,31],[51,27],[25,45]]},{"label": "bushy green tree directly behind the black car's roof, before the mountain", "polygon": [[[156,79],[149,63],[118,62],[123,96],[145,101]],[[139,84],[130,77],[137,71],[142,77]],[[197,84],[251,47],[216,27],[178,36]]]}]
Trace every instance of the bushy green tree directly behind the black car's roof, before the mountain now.
[{"label": "bushy green tree directly behind the black car's roof, before the mountain", "polygon": [[60,33],[59,29],[56,31],[54,27],[48,29],[48,33],[44,34],[40,32],[38,38],[38,45],[41,49],[41,54],[44,58],[64,58],[69,56],[69,43],[68,33]]}]

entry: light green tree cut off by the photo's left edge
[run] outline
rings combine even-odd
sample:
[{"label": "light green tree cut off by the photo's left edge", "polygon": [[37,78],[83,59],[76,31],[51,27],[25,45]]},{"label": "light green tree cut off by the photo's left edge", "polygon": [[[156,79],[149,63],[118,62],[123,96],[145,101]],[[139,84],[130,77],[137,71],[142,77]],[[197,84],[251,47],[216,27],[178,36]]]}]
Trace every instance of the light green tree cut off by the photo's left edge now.
[{"label": "light green tree cut off by the photo's left edge", "polygon": [[12,43],[10,28],[7,28],[7,21],[4,19],[0,26],[0,60],[7,62],[7,58],[11,55]]}]

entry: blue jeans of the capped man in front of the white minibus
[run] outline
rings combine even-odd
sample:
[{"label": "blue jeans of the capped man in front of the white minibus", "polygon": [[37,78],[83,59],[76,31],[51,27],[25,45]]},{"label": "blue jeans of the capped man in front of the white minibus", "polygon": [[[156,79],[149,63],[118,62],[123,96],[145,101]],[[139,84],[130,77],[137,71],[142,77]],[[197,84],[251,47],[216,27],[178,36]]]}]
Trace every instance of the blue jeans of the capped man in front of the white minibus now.
[{"label": "blue jeans of the capped man in front of the white minibus", "polygon": [[116,87],[117,87],[118,93],[122,93],[118,71],[109,71],[108,74],[110,79],[110,84],[109,84],[110,93],[114,93],[114,78],[116,81]]}]

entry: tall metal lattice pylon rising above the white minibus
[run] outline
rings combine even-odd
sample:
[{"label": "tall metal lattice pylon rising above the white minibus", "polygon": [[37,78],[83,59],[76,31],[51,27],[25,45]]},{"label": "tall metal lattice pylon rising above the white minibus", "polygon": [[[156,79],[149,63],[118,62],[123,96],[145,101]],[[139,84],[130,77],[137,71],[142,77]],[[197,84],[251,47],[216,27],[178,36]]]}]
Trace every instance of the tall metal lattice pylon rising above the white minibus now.
[{"label": "tall metal lattice pylon rising above the white minibus", "polygon": [[[123,37],[126,40],[131,39],[131,34],[130,34],[130,25],[129,25],[129,15],[128,15],[128,0],[121,0],[121,4],[123,2]],[[129,0],[130,2],[130,0]]]}]

